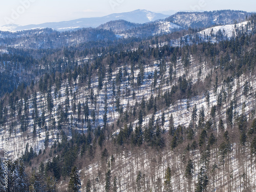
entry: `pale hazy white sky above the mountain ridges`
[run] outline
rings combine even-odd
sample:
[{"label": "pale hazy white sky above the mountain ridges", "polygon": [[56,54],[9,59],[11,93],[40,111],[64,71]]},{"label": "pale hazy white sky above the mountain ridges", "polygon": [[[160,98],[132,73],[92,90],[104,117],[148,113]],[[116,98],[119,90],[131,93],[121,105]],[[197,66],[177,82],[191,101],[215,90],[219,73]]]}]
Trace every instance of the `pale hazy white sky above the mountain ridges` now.
[{"label": "pale hazy white sky above the mountain ridges", "polygon": [[255,0],[1,0],[0,26],[60,22],[84,17],[146,9],[170,10],[242,10],[256,11]]}]

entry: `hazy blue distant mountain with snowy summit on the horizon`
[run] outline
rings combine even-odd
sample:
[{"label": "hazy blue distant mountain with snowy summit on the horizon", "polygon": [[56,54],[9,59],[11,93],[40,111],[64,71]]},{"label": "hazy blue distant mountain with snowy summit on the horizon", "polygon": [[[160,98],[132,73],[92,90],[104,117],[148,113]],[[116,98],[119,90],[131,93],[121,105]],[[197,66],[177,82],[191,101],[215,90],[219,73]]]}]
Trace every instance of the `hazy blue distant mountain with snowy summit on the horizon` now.
[{"label": "hazy blue distant mountain with snowy summit on the horizon", "polygon": [[103,17],[80,18],[80,19],[70,20],[67,22],[44,23],[39,25],[27,25],[27,26],[5,25],[0,27],[0,31],[13,32],[13,31],[42,29],[42,28],[52,28],[57,31],[68,31],[68,30],[75,30],[79,28],[98,27],[112,20],[122,19],[131,23],[144,24],[147,22],[154,22],[155,20],[158,20],[158,19],[164,19],[168,16],[169,15],[164,15],[161,13],[154,13],[151,11],[139,9],[132,12],[114,13],[111,15],[103,16]]}]

